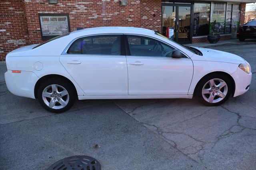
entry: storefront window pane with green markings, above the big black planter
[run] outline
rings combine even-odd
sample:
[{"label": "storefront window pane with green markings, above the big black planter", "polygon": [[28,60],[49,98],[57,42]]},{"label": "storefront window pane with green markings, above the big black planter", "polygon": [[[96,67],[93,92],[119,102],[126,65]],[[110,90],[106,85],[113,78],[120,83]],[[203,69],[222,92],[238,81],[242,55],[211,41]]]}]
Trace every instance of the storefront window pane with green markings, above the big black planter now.
[{"label": "storefront window pane with green markings, above the big black planter", "polygon": [[222,2],[212,2],[211,6],[211,22],[216,20],[214,26],[215,34],[224,34],[225,33],[225,14],[226,14],[226,3]]}]

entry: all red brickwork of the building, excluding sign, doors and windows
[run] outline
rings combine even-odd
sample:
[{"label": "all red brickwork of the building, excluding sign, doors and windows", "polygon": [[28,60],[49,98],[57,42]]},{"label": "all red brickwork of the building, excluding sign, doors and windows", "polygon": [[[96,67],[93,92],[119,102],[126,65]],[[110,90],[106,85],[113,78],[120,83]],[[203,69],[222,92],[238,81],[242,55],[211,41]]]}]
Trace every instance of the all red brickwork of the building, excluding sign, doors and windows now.
[{"label": "all red brickwork of the building, excluding sign, doors and windows", "polygon": [[[244,24],[245,3],[241,3],[240,25]],[[22,45],[41,43],[38,13],[69,14],[71,31],[76,27],[134,26],[161,32],[161,0],[0,0],[0,61]],[[228,40],[222,36],[220,40]],[[207,38],[192,38],[192,43]]]}]

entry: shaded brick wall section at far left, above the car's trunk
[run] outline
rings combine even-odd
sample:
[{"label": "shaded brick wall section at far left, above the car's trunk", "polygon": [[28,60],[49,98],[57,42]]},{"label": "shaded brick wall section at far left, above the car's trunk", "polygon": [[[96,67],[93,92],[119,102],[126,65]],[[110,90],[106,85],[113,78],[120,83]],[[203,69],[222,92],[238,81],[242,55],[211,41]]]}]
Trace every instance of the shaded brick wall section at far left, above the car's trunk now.
[{"label": "shaded brick wall section at far left, above the car's trunk", "polygon": [[22,0],[0,0],[0,61],[8,52],[28,44]]}]

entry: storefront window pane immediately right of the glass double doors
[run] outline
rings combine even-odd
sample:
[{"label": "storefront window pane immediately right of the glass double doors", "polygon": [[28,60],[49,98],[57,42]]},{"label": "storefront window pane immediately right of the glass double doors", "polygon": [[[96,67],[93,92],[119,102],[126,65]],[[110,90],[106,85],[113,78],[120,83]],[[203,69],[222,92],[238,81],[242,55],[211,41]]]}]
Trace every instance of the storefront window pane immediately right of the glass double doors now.
[{"label": "storefront window pane immediately right of the glass double doors", "polygon": [[194,4],[194,36],[205,36],[209,34],[210,4]]}]

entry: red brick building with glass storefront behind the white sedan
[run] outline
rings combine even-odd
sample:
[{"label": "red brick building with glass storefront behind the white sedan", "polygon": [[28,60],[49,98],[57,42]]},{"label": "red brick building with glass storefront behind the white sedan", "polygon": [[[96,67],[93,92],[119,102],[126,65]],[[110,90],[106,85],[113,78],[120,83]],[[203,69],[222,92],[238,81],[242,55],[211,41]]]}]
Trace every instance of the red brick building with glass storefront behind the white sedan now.
[{"label": "red brick building with glass storefront behind the white sedan", "polygon": [[[50,4],[54,1],[57,3]],[[238,0],[122,1],[127,4],[120,0],[0,0],[0,61],[18,47],[47,39],[40,15],[67,16],[69,31],[77,27],[132,26],[158,31],[180,43],[196,43],[207,41],[208,25],[214,17],[220,18],[217,31],[221,40],[232,38],[228,20],[233,17],[238,28],[244,22],[246,5]]]}]

